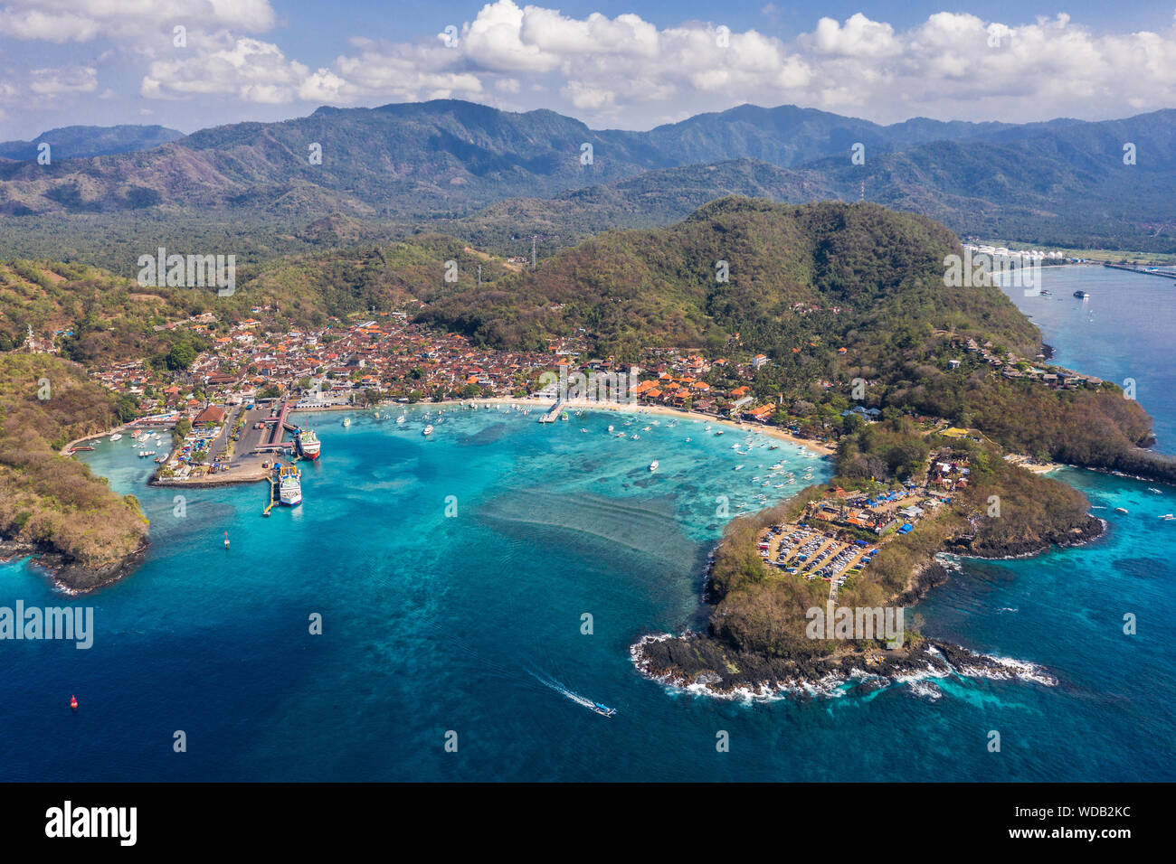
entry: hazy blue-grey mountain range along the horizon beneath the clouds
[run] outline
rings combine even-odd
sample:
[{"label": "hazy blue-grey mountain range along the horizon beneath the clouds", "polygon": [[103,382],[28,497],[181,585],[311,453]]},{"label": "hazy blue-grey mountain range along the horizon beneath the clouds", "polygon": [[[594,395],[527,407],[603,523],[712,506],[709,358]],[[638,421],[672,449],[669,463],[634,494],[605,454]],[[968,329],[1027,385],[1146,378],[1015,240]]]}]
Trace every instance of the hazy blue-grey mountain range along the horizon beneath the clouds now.
[{"label": "hazy blue-grey mountain range along the horizon beneath the clouds", "polygon": [[122,273],[143,227],[173,245],[230,240],[255,259],[422,229],[519,254],[532,235],[548,252],[610,227],[669,225],[739,194],[864,199],[960,235],[1171,253],[1174,192],[1176,110],[880,126],[740,106],[626,132],[550,110],[437,100],[323,107],[48,166],[0,162],[0,241],[15,254],[91,259]]}]

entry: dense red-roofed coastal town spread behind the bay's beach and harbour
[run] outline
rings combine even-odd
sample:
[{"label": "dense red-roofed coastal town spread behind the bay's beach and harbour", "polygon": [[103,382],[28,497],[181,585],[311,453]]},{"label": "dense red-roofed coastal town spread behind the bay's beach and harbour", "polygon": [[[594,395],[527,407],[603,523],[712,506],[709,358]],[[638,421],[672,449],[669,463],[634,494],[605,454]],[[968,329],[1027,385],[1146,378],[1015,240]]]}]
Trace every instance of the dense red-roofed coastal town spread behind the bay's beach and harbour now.
[{"label": "dense red-roofed coastal town spread behind the bay's beach and harbour", "polygon": [[[555,370],[564,379],[580,375],[627,382],[619,393],[608,394],[609,401],[771,426],[823,444],[827,451],[847,416],[868,423],[882,415],[861,400],[843,401],[840,416],[830,416],[811,406],[786,403],[782,394],[764,393],[757,387],[757,374],[773,360],[740,343],[737,334],[728,344],[730,356],[708,357],[700,348],[659,348],[649,349],[639,363],[623,363],[594,356],[592,334],[584,330],[553,337],[546,350],[510,351],[429,328],[414,321],[413,309],[332,317],[313,330],[276,329],[273,313],[259,306],[239,321],[206,312],[156,326],[156,331],[186,331],[207,346],[183,369],[136,361],[89,370],[109,390],[135,401],[135,426],[176,430],[174,448],[153,440],[156,449],[149,455],[160,466],[155,482],[265,478],[274,462],[256,457],[295,455],[302,430],[288,415],[296,411],[372,408],[386,402],[542,401],[557,397],[555,388],[543,384],[543,376],[549,381]],[[29,328],[22,350],[53,354],[68,335],[34,334]],[[1004,379],[1063,389],[1102,384],[1097,377],[1048,363],[1044,355],[1021,357],[948,330],[934,335],[938,360],[948,370],[987,369]],[[836,349],[841,355],[846,350]],[[849,382],[818,380],[813,387],[840,393],[849,390]],[[590,401],[597,394],[583,396]],[[294,437],[283,441],[282,430]],[[85,447],[85,442],[71,447]],[[145,448],[140,453],[147,455]]]}]

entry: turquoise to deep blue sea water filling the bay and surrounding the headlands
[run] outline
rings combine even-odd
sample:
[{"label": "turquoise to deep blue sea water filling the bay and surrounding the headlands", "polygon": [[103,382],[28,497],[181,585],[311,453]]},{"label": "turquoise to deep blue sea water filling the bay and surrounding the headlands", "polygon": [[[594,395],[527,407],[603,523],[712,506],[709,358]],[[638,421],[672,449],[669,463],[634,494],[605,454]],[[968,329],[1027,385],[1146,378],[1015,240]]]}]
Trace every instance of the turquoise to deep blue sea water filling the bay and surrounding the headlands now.
[{"label": "turquoise to deep blue sea water filling the bay and surrounding the headlands", "polygon": [[[1176,284],[1068,268],[1047,270],[1045,287],[1053,297],[1010,295],[1057,362],[1135,377],[1160,449],[1176,451],[1164,393]],[[1090,300],[1070,296],[1080,287]],[[757,507],[756,494],[775,501],[807,469],[827,477],[822,460],[759,437],[736,453],[743,433],[653,415],[541,426],[497,410],[436,423],[434,411],[425,438],[425,410],[400,428],[370,411],[349,428],[342,414],[309,415],[322,458],[303,466],[305,503],[269,518],[261,485],[187,490],[176,517],[175,490],[143,484],[153,466],[129,438],[87,454],[139,496],[151,551],[129,578],[78,600],[27,562],[0,565],[0,605],[93,605],[96,631],[89,650],[0,642],[0,779],[1176,779],[1176,520],[1158,518],[1176,510],[1176,488],[1064,470],[1105,508],[1095,513],[1107,535],[964,562],[915,609],[929,635],[1041,664],[1055,686],[924,679],[720,701],[641,678],[629,645],[703,622],[722,498],[730,515]],[[761,485],[776,461],[796,484]],[[186,752],[173,751],[176,730]],[[716,751],[720,730],[729,752]]]}]

